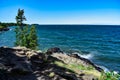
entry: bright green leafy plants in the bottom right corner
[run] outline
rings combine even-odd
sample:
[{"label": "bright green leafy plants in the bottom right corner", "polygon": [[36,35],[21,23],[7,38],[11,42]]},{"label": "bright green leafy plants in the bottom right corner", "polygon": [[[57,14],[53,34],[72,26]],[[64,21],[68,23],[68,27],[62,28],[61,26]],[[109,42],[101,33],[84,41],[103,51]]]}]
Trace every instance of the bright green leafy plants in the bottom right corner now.
[{"label": "bright green leafy plants in the bottom right corner", "polygon": [[114,72],[102,73],[100,80],[120,80],[120,75]]}]

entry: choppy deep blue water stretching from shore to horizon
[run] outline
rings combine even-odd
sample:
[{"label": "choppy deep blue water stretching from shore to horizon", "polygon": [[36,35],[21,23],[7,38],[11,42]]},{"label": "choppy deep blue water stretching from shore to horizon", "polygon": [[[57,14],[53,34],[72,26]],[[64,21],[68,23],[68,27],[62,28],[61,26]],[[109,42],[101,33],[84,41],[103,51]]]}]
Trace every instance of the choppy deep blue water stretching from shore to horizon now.
[{"label": "choppy deep blue water stretching from shore to horizon", "polygon": [[[60,47],[65,53],[79,53],[97,65],[120,71],[120,26],[37,26],[39,48]],[[0,32],[0,46],[14,46],[14,27]],[[81,53],[83,52],[83,53]]]}]

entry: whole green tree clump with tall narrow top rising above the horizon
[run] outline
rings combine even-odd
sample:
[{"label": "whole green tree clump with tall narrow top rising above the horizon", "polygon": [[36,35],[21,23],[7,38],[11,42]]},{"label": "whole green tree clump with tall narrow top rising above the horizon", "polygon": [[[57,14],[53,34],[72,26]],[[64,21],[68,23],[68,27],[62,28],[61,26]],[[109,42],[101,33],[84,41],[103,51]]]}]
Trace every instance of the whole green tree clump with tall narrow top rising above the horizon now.
[{"label": "whole green tree clump with tall narrow top rising above the horizon", "polygon": [[16,21],[18,26],[15,29],[16,32],[16,46],[24,46],[30,49],[37,49],[38,41],[35,26],[23,26],[23,21],[26,20],[24,10],[18,10]]}]

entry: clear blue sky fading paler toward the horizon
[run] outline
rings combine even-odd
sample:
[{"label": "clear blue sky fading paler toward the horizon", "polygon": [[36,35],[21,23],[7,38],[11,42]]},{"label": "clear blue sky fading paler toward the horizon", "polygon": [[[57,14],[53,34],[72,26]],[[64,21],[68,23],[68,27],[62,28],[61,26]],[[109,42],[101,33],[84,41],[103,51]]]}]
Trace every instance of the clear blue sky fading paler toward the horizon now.
[{"label": "clear blue sky fading paler toward the horizon", "polygon": [[29,24],[120,25],[120,0],[0,0],[0,22],[16,22],[19,8]]}]

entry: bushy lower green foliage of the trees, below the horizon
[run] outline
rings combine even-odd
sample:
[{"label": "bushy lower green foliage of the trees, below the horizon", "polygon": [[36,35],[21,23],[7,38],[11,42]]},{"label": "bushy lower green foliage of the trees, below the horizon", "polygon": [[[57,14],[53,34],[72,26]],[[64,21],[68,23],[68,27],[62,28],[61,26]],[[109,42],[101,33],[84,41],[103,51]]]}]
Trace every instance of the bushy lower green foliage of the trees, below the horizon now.
[{"label": "bushy lower green foliage of the trees, below the horizon", "polygon": [[35,26],[28,28],[28,26],[23,27],[21,30],[20,27],[17,27],[16,30],[16,46],[24,46],[30,49],[37,49],[38,41],[36,35]]}]

